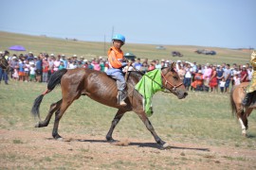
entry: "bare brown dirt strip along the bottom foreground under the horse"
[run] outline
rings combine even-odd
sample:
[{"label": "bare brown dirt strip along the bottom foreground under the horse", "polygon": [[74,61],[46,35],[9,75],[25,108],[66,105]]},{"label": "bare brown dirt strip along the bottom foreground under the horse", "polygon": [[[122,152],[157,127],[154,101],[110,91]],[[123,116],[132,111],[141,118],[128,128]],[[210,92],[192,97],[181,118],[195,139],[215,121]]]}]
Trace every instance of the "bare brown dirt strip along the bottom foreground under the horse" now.
[{"label": "bare brown dirt strip along the bottom foreground under the horse", "polygon": [[0,130],[0,168],[68,169],[255,169],[255,149],[66,134],[63,141],[32,130]]}]

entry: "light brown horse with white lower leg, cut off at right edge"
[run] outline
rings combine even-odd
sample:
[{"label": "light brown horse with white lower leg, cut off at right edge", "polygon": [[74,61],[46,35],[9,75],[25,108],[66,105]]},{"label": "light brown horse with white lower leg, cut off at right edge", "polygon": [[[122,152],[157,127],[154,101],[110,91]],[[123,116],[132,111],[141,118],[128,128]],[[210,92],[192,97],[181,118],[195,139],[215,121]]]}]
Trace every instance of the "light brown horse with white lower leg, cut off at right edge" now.
[{"label": "light brown horse with white lower leg, cut off at right edge", "polygon": [[247,136],[248,120],[247,117],[251,113],[255,106],[255,94],[252,97],[252,102],[248,107],[242,105],[242,101],[246,96],[246,90],[249,82],[241,83],[240,85],[234,86],[230,93],[230,105],[232,114],[236,113],[238,121],[242,127],[242,134]]}]

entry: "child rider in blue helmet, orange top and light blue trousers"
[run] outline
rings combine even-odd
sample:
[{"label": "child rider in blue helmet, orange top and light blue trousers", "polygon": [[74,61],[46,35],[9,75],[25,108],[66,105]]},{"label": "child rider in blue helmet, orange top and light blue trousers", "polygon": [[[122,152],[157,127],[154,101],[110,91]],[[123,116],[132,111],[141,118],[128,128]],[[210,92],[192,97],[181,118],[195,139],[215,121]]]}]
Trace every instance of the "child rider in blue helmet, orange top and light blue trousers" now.
[{"label": "child rider in blue helmet, orange top and light blue trousers", "polygon": [[112,76],[117,80],[118,85],[118,104],[120,106],[126,106],[127,104],[124,102],[124,99],[127,96],[126,82],[122,73],[122,68],[127,65],[124,62],[123,52],[120,49],[121,46],[125,43],[125,37],[121,34],[117,34],[112,38],[113,46],[108,50],[108,61],[109,61],[109,69],[106,74],[108,76]]}]

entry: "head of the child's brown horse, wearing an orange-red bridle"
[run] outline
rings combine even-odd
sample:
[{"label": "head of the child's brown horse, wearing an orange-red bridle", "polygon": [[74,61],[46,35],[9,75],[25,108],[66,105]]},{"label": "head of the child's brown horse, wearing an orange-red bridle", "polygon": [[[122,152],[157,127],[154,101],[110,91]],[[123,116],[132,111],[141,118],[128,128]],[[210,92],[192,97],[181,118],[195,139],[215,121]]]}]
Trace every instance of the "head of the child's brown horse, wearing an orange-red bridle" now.
[{"label": "head of the child's brown horse, wearing an orange-red bridle", "polygon": [[163,86],[168,89],[171,93],[174,93],[179,99],[185,98],[188,93],[183,84],[183,81],[179,78],[175,71],[175,62],[172,63],[171,67],[162,69],[162,82]]}]

